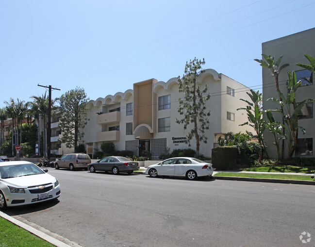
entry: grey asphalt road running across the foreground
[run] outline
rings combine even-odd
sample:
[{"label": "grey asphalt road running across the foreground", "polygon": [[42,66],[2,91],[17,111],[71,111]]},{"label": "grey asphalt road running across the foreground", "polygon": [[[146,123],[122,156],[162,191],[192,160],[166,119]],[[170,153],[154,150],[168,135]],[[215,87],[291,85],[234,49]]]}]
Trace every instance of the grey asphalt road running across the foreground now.
[{"label": "grey asphalt road running across the foreground", "polygon": [[49,173],[59,201],[6,213],[84,247],[315,246],[312,185]]}]

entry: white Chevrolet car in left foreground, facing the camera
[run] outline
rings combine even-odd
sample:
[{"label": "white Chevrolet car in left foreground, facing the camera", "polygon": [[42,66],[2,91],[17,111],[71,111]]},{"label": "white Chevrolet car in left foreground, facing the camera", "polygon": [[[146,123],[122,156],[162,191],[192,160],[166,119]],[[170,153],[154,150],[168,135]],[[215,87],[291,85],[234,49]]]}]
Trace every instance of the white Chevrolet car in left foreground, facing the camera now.
[{"label": "white Chevrolet car in left foreground, facing the camera", "polygon": [[27,161],[0,164],[0,210],[47,201],[60,196],[59,181]]}]

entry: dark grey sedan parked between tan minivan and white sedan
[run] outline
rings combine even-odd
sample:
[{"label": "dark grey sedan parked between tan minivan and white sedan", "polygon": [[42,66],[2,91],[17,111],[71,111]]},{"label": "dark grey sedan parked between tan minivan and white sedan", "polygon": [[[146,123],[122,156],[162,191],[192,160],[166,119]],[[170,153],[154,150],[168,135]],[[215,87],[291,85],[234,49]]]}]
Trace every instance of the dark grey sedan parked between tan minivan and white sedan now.
[{"label": "dark grey sedan parked between tan minivan and white sedan", "polygon": [[112,171],[114,174],[119,174],[119,172],[132,174],[133,171],[139,170],[139,163],[125,157],[110,156],[89,164],[87,169],[90,172]]}]

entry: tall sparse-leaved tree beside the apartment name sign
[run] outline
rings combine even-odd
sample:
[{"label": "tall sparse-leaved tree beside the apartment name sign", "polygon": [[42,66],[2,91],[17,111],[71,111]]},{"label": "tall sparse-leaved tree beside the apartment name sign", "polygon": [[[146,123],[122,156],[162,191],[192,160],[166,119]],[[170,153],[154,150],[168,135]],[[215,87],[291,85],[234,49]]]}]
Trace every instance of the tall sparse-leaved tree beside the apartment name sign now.
[{"label": "tall sparse-leaved tree beside the apartment name sign", "polygon": [[184,98],[179,100],[178,112],[183,115],[182,119],[176,118],[176,123],[183,124],[184,129],[192,124],[190,132],[186,135],[187,142],[190,146],[190,141],[196,139],[196,157],[199,157],[200,141],[207,143],[207,137],[204,135],[205,130],[209,129],[210,111],[206,108],[206,102],[210,99],[210,94],[207,93],[208,87],[205,85],[203,89],[197,85],[198,76],[204,72],[201,65],[204,65],[204,59],[198,60],[194,58],[189,63],[186,62],[185,71],[182,79],[178,77],[179,92],[183,92]]}]

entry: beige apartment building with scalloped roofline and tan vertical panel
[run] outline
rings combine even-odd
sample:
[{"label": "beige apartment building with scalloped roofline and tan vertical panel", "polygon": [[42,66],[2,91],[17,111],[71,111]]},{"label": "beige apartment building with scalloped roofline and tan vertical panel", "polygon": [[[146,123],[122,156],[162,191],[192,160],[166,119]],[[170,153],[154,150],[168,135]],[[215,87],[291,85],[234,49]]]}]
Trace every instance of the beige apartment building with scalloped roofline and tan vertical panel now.
[{"label": "beige apartment building with scalloped roofline and tan vertical panel", "polygon": [[[243,111],[246,106],[240,99],[249,99],[246,86],[213,69],[199,75],[201,88],[207,84],[211,98],[207,101],[209,130],[206,131],[208,143],[201,143],[199,153],[211,157],[211,150],[218,136],[226,132],[245,132],[249,126],[239,126],[247,121]],[[87,125],[84,127],[83,143],[87,153],[92,155],[100,150],[103,142],[113,142],[116,150],[132,150],[134,155],[146,156],[150,152],[153,159],[161,153],[176,148],[188,148],[185,143],[187,130],[176,123],[181,119],[178,113],[179,93],[177,78],[167,82],[149,79],[133,84],[133,89],[107,95],[88,102]],[[196,143],[191,142],[196,149]]]}]

